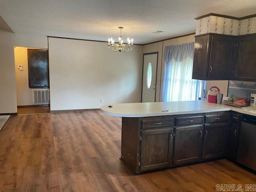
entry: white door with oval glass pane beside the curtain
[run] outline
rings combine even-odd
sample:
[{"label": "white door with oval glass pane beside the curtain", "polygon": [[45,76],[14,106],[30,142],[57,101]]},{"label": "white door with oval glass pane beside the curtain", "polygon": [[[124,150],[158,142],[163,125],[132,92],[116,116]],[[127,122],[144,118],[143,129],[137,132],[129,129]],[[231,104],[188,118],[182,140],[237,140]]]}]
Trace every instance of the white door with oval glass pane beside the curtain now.
[{"label": "white door with oval glass pane beside the curtain", "polygon": [[143,54],[142,102],[156,101],[158,52]]}]

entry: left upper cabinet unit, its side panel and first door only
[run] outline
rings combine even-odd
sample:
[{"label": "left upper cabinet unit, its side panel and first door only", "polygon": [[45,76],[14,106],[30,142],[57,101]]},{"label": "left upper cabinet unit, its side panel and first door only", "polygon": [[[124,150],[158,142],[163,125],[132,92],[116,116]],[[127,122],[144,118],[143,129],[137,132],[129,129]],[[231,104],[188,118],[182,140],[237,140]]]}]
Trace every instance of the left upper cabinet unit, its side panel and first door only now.
[{"label": "left upper cabinet unit, its side panel and first door only", "polygon": [[207,34],[196,36],[193,79],[230,80],[235,36]]}]

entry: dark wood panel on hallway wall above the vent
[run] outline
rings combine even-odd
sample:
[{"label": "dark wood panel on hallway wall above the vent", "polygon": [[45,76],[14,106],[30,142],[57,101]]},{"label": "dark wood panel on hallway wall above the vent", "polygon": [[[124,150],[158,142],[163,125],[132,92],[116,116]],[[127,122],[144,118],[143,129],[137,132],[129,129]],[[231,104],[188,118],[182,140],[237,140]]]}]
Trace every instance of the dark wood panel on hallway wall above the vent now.
[{"label": "dark wood panel on hallway wall above the vent", "polygon": [[49,87],[48,50],[28,49],[28,86]]}]

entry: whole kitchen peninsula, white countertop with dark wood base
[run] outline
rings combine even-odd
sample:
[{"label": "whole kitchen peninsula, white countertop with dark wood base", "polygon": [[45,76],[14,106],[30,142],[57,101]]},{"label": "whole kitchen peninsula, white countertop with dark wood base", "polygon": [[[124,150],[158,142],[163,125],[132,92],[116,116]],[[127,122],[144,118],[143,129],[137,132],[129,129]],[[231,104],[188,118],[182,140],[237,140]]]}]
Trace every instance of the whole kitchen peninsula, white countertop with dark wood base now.
[{"label": "whole kitchen peninsula, white countertop with dark wood base", "polygon": [[241,119],[256,116],[206,101],[112,104],[101,111],[122,117],[120,159],[132,173],[218,158],[236,162]]}]

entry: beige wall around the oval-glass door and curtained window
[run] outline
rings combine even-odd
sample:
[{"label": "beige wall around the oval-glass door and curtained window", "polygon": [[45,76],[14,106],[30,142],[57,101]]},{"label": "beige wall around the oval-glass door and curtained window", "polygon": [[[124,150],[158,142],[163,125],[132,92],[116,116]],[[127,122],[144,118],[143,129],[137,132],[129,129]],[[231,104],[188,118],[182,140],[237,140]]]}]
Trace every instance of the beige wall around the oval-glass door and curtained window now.
[{"label": "beige wall around the oval-glass door and curtained window", "polygon": [[[156,88],[156,101],[162,101],[162,86],[163,86],[163,80],[164,80],[164,68],[165,68],[165,62],[164,59],[162,58],[164,54],[164,49],[166,46],[172,46],[172,45],[178,45],[178,44],[184,44],[184,43],[189,43],[189,42],[194,42],[195,38],[194,35],[189,35],[189,36],[184,36],[180,38],[175,38],[175,39],[170,39],[170,40],[165,40],[163,42],[158,42],[158,43],[153,43],[153,44],[148,44],[143,46],[143,53],[147,52],[159,52],[158,55],[158,74],[157,74],[157,86]],[[161,54],[162,55],[161,55]],[[162,62],[162,64],[160,64]],[[162,68],[162,74],[159,72],[161,71]],[[212,86],[217,86],[220,88],[220,92],[226,96],[228,92],[228,81],[207,81],[207,90],[209,90],[210,87]],[[159,97],[160,95],[160,97]]]}]

